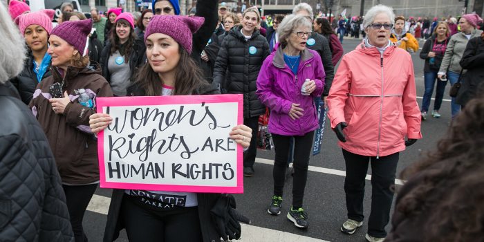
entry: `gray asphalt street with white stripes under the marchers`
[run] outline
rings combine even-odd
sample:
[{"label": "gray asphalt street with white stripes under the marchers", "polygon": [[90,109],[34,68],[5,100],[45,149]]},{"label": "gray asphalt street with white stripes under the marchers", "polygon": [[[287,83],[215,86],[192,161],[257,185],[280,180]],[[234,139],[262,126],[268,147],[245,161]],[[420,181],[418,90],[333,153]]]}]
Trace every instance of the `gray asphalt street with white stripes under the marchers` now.
[{"label": "gray asphalt street with white stripes under the marchers", "polygon": [[[354,50],[358,44],[360,44],[360,40],[344,39],[344,52]],[[419,44],[423,46],[422,41]],[[424,93],[424,61],[418,57],[419,53],[420,50],[418,53],[412,54],[412,59],[419,97],[418,104],[421,106],[421,97]],[[448,84],[440,109],[442,118],[436,119],[429,115],[427,120],[422,122],[423,139],[400,153],[398,173],[416,161],[420,154],[434,149],[438,139],[445,133],[451,116],[449,88]],[[434,101],[431,102],[430,109],[433,105]],[[308,183],[304,197],[304,210],[308,212],[310,221],[310,227],[306,230],[298,229],[286,218],[291,204],[292,178],[286,180],[281,215],[268,214],[267,206],[272,196],[271,163],[274,159],[274,151],[257,152],[254,176],[244,179],[244,194],[235,195],[237,210],[252,220],[250,226],[244,227],[242,241],[365,241],[364,235],[371,201],[371,183],[369,180],[366,181],[364,225],[351,236],[342,234],[339,227],[346,221],[343,190],[345,166],[341,148],[337,146],[337,138],[331,131],[329,122],[326,122],[322,149],[321,154],[310,158],[310,171],[308,171]],[[371,175],[371,170],[368,171],[368,174]],[[84,216],[84,230],[91,242],[102,241],[110,196],[111,189],[98,188],[88,208],[89,211]],[[390,230],[390,225],[387,226],[387,230]],[[124,231],[118,241],[127,241]]]}]

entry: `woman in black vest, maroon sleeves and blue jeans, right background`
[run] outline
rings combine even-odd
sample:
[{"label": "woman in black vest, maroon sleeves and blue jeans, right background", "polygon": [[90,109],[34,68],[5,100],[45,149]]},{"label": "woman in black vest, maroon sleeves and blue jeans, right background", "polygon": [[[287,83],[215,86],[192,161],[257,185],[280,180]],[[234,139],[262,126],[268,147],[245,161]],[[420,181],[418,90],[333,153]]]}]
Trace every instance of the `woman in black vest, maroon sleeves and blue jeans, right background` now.
[{"label": "woman in black vest, maroon sleeves and blue jeans, right background", "polygon": [[420,109],[420,115],[422,120],[427,119],[427,111],[429,111],[430,100],[432,93],[434,93],[434,86],[437,80],[436,98],[434,101],[434,109],[432,110],[432,116],[434,118],[440,118],[440,105],[444,98],[445,86],[447,85],[447,79],[442,77],[440,81],[437,79],[438,69],[442,64],[445,49],[447,43],[451,37],[451,31],[446,22],[439,22],[434,28],[434,33],[425,41],[425,44],[420,51],[420,59],[425,59],[424,66],[424,80],[425,80],[425,93],[422,100],[422,108]]}]

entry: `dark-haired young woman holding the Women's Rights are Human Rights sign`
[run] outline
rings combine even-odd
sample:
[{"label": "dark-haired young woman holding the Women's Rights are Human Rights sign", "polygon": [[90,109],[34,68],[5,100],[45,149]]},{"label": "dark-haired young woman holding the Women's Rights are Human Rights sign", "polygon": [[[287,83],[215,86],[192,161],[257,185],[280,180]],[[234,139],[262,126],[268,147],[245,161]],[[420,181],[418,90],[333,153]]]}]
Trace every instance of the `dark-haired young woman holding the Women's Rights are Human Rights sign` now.
[{"label": "dark-haired young woman holding the Women's Rights are Human Rights sign", "polygon": [[[220,94],[215,84],[201,78],[201,69],[189,57],[192,35],[203,21],[201,17],[153,16],[145,30],[149,64],[135,75],[128,95]],[[113,120],[105,113],[90,118],[93,133],[106,129]],[[245,125],[230,132],[230,138],[243,148],[249,147],[251,137],[252,130]],[[183,200],[183,204],[169,199],[173,197]],[[131,242],[239,239],[241,228],[236,220],[240,214],[234,207],[233,196],[221,194],[113,189],[104,241],[117,239],[123,228]],[[228,221],[232,223],[227,224]]]}]

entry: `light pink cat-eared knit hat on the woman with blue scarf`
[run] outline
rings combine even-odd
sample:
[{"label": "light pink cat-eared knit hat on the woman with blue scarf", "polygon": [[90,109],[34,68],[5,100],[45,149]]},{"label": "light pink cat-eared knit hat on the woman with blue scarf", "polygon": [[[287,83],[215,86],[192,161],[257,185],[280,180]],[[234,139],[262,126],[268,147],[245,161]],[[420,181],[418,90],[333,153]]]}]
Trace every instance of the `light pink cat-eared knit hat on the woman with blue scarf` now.
[{"label": "light pink cat-eared knit hat on the woman with blue scarf", "polygon": [[25,29],[32,25],[37,24],[42,26],[50,35],[52,31],[52,19],[54,19],[55,11],[51,9],[40,10],[39,12],[29,12],[26,15],[19,15],[15,18],[15,24],[19,26],[20,33],[24,35]]}]

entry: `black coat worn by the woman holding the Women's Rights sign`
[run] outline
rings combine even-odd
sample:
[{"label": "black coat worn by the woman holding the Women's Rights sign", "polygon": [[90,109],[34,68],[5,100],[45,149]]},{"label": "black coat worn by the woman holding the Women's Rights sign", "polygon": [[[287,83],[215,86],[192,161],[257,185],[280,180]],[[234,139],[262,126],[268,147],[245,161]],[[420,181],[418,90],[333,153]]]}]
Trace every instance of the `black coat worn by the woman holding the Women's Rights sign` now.
[{"label": "black coat worn by the woman holding the Women's Rights sign", "polygon": [[[128,96],[143,96],[144,90],[137,83],[128,86]],[[210,86],[201,86],[196,89],[194,95],[212,95],[220,94],[218,87],[215,84]],[[111,195],[111,204],[109,205],[108,219],[106,221],[106,229],[104,231],[104,242],[112,242],[118,239],[120,231],[124,229],[124,223],[122,220],[122,214],[120,214],[122,196],[124,196],[124,189],[113,189]],[[198,193],[198,216],[200,218],[200,225],[202,230],[203,242],[218,242],[221,241],[221,236],[218,235],[216,225],[212,219],[210,210],[214,207],[218,196],[220,194],[214,193]],[[189,231],[187,231],[189,232]]]}]

